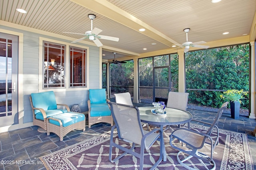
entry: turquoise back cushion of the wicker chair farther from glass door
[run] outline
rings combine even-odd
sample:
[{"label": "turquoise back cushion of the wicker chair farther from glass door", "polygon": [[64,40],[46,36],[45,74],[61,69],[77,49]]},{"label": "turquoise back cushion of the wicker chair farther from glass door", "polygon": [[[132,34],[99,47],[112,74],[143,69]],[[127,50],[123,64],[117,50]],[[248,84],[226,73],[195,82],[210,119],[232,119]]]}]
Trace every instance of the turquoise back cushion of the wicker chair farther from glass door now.
[{"label": "turquoise back cushion of the wicker chair farther from glass door", "polygon": [[106,89],[89,89],[91,103],[106,103]]}]

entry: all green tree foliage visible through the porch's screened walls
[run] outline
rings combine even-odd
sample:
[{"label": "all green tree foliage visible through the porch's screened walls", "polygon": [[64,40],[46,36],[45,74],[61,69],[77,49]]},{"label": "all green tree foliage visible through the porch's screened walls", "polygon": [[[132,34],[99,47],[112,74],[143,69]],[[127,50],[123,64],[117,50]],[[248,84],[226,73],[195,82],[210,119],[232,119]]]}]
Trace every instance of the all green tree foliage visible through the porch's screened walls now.
[{"label": "all green tree foliage visible through the porch's screened walls", "polygon": [[[220,98],[222,91],[249,91],[249,44],[190,51],[185,54],[185,63],[186,89],[190,93],[190,103],[218,108],[224,103],[224,99]],[[163,68],[164,66],[170,69]],[[138,67],[140,88],[152,88],[154,81],[156,87],[170,84],[172,91],[178,89],[178,54],[141,58],[138,59]],[[169,72],[171,83],[168,83]],[[106,76],[104,73],[102,75]],[[104,77],[102,82],[106,82]],[[110,86],[117,87],[114,89],[115,93],[128,91],[125,87],[133,87],[133,82],[133,60],[124,64],[110,64]],[[140,92],[142,96],[142,91]],[[244,105],[241,107],[248,109],[248,96],[242,102]]]}]

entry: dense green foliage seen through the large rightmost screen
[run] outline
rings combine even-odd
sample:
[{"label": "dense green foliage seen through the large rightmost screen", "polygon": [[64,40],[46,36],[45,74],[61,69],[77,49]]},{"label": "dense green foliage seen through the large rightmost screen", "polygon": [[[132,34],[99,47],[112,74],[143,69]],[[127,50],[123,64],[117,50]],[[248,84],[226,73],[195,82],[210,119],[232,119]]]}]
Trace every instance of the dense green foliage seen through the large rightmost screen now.
[{"label": "dense green foliage seen through the large rightmost screen", "polygon": [[[187,89],[249,90],[249,44],[186,53]],[[219,107],[220,91],[188,91],[191,103]],[[243,101],[248,108],[248,99]]]}]

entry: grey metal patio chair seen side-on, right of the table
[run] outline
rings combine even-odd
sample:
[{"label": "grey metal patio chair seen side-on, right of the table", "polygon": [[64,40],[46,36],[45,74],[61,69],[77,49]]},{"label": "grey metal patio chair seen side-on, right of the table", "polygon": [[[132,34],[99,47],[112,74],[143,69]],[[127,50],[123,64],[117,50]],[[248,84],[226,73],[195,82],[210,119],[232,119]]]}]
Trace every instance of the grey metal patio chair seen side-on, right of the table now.
[{"label": "grey metal patio chair seen side-on, right of the table", "polygon": [[[192,157],[196,157],[202,164],[204,164],[204,161],[211,162],[212,163],[211,170],[215,170],[216,165],[214,160],[212,159],[212,154],[215,146],[218,144],[218,141],[219,141],[217,123],[222,115],[223,110],[227,108],[226,107],[227,105],[228,105],[228,102],[222,104],[212,124],[198,121],[200,123],[210,125],[207,131],[198,132],[196,130],[189,129],[189,128],[177,128],[172,132],[172,134],[170,135],[170,145],[173,148],[180,150],[177,153],[177,160],[182,166],[184,166],[187,169],[194,170],[194,168],[192,168],[191,166],[188,166],[184,162],[186,160],[191,159]],[[196,121],[196,120],[192,120],[192,121]],[[214,136],[214,138],[210,136],[213,128],[217,128],[217,133]],[[175,143],[175,140],[181,141],[182,145],[178,145],[180,144],[179,142]],[[183,144],[186,144],[185,148],[183,147]],[[203,148],[206,144],[210,145],[210,155],[209,153],[202,153],[198,151],[199,149]],[[181,160],[179,157],[180,155],[182,155],[181,158],[184,158],[184,159]],[[188,164],[191,164],[191,163],[192,163],[192,160],[188,162]],[[206,167],[205,164],[204,166]]]}]

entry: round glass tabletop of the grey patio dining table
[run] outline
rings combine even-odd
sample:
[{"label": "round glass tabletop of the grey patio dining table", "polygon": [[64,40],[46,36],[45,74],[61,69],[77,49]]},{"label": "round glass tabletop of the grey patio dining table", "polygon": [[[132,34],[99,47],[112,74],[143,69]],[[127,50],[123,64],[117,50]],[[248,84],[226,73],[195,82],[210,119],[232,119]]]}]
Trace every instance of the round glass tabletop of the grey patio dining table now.
[{"label": "round glass tabletop of the grey patio dining table", "polygon": [[192,120],[193,116],[188,111],[165,108],[165,115],[154,115],[151,110],[154,107],[138,107],[140,120],[151,125],[180,125]]}]

